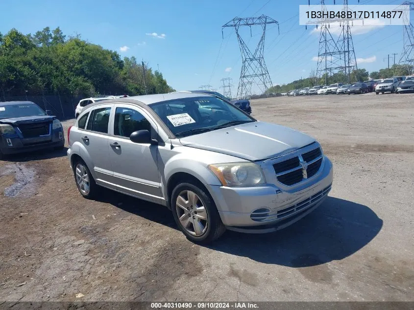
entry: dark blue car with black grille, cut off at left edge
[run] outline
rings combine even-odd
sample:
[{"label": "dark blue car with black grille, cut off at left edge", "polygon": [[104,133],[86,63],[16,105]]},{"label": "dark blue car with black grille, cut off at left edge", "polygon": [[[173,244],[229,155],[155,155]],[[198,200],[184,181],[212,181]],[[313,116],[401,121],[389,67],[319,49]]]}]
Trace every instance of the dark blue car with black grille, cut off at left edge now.
[{"label": "dark blue car with black grille, cut off at left edge", "polygon": [[0,102],[0,158],[44,148],[62,149],[62,124],[47,112],[30,101]]}]

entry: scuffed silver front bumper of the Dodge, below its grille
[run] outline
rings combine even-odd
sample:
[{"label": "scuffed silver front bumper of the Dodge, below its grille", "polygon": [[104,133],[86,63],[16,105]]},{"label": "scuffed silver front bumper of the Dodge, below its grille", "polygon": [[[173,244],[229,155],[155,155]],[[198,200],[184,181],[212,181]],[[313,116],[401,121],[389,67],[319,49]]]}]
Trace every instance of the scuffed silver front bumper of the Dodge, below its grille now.
[{"label": "scuffed silver front bumper of the Dodge, below its grille", "polygon": [[[312,212],[326,198],[332,182],[332,163],[324,157],[323,166],[305,189],[285,191],[273,184],[249,188],[207,187],[229,230],[267,233],[285,228]],[[267,217],[253,220],[256,211],[263,208],[269,210]]]}]

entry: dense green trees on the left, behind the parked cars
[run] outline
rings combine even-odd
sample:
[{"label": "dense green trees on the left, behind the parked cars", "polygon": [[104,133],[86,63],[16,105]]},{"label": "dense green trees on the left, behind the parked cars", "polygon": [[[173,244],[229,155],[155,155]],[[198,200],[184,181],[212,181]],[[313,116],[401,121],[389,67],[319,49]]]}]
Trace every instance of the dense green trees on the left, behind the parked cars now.
[{"label": "dense green trees on the left, behind the parked cars", "polygon": [[79,35],[64,35],[59,27],[46,27],[33,35],[15,28],[0,33],[2,95],[143,95],[171,91],[161,72],[143,67],[134,56],[122,59],[116,51],[82,40]]}]

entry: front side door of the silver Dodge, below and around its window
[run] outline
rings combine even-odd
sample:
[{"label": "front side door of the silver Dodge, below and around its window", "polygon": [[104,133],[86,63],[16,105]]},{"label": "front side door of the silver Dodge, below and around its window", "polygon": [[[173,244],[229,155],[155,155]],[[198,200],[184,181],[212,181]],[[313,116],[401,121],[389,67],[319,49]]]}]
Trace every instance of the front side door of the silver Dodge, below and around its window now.
[{"label": "front side door of the silver Dodge, below and around its window", "polygon": [[158,146],[129,140],[132,132],[143,129],[156,137],[157,124],[145,110],[125,103],[116,104],[113,115],[109,159],[117,190],[142,199],[163,202],[157,167]]}]

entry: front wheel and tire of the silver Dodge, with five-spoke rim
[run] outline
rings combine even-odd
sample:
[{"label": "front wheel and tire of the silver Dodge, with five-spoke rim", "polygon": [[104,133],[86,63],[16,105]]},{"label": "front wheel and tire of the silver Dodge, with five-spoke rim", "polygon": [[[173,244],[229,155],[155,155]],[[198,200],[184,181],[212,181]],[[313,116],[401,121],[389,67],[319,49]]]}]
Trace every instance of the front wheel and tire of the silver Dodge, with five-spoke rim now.
[{"label": "front wheel and tire of the silver Dodge, with five-spoke rim", "polygon": [[210,243],[224,233],[216,204],[205,189],[180,183],[172,191],[170,201],[175,223],[189,240]]}]

